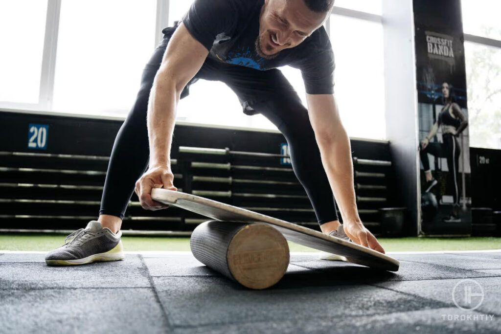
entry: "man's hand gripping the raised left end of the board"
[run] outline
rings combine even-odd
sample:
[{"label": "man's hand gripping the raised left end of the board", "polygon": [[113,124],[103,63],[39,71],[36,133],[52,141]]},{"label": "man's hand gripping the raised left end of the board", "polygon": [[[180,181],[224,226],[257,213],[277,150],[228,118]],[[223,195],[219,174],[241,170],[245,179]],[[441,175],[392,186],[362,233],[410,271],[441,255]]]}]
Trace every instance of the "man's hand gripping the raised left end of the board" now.
[{"label": "man's hand gripping the raised left end of the board", "polygon": [[137,180],[136,189],[134,190],[137,197],[139,197],[143,209],[154,211],[168,208],[168,205],[156,202],[151,198],[151,189],[161,188],[163,186],[164,189],[177,191],[177,188],[172,184],[173,180],[174,174],[172,174],[170,167],[157,166],[149,168],[143,176]]}]

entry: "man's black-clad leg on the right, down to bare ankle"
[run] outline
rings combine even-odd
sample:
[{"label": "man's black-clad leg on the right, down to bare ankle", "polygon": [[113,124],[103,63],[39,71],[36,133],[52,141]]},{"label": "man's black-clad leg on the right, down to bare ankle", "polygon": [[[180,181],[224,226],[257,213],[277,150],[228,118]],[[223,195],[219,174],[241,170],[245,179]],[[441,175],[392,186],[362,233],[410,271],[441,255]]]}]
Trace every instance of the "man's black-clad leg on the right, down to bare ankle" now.
[{"label": "man's black-clad leg on the right, down to bare ankle", "polygon": [[289,144],[294,172],[305,188],[322,231],[336,230],[339,221],[334,196],[308,110],[280,70],[250,69],[240,76],[241,80],[231,75],[224,82],[238,95],[242,105],[263,114],[282,132]]}]

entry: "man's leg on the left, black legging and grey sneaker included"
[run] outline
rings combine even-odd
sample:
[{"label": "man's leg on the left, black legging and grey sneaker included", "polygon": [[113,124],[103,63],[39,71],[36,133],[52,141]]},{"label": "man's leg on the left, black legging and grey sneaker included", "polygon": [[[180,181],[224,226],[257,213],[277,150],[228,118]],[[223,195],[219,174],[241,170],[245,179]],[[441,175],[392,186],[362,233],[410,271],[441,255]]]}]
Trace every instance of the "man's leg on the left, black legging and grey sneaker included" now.
[{"label": "man's leg on the left, black legging and grey sneaker included", "polygon": [[[101,200],[99,222],[91,221],[85,229],[72,233],[71,241],[46,255],[47,264],[74,265],[125,258],[120,227],[135,187],[135,181],[147,167],[149,156],[146,123],[148,99],[168,40],[174,30],[174,28],[166,30],[167,34],[162,43],[155,49],[146,65],[136,102],[115,138]],[[181,98],[188,95],[189,85],[196,80],[197,78],[193,78],[186,85],[181,92]]]}]

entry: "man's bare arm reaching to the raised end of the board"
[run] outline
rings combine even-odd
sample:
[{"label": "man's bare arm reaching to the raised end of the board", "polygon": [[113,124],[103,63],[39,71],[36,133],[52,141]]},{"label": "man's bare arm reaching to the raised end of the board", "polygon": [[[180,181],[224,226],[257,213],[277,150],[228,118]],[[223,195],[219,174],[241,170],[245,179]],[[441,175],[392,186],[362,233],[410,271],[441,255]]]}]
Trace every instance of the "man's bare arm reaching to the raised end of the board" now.
[{"label": "man's bare arm reaching to the raised end of the board", "polygon": [[165,207],[151,199],[151,188],[175,189],[170,169],[170,148],[177,104],[186,84],[200,70],[208,50],[181,24],[172,35],[158,69],[148,101],[149,168],[136,182],[136,193],[145,209]]}]

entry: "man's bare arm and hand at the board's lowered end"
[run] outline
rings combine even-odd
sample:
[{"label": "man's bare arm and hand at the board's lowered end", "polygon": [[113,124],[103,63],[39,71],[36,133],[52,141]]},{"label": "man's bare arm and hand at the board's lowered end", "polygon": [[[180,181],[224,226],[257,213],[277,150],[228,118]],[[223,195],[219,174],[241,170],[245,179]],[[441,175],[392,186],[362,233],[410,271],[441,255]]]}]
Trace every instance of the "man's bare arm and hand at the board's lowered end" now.
[{"label": "man's bare arm and hand at the board's lowered end", "polygon": [[384,252],[358,215],[350,138],[341,123],[334,95],[307,94],[308,114],[346,234],[358,244]]}]

